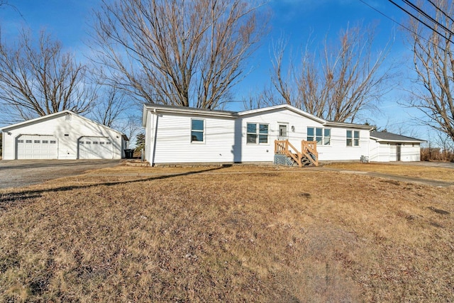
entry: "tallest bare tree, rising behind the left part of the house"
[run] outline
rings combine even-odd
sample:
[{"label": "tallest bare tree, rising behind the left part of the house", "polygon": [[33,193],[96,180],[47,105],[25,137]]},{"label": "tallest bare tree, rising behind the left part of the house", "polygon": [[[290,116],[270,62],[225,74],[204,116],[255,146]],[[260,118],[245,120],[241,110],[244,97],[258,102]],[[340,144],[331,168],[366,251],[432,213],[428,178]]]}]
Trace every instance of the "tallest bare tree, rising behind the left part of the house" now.
[{"label": "tallest bare tree, rising behind the left part of the house", "polygon": [[140,102],[214,109],[263,33],[243,0],[103,0],[94,50],[102,77]]}]

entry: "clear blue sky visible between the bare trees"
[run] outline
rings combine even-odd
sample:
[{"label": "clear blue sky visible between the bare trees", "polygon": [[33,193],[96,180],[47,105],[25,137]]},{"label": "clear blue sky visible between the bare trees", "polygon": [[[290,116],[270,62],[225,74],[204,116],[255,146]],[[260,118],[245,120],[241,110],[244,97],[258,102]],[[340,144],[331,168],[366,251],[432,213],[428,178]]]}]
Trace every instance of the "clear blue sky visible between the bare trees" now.
[{"label": "clear blue sky visible between the bare trees", "polygon": [[[376,9],[399,22],[405,16],[388,1],[363,0]],[[9,0],[17,11],[9,6],[0,8],[1,35],[4,41],[17,35],[18,28],[28,26],[38,32],[45,28],[54,38],[62,41],[65,48],[72,50],[77,57],[84,60],[88,48],[84,41],[88,39],[89,21],[93,9],[99,6],[99,0]],[[380,15],[377,11],[363,4],[360,0],[271,0],[265,9],[272,12],[270,33],[262,41],[258,51],[250,58],[246,70],[247,77],[234,89],[234,99],[242,99],[260,91],[270,78],[270,48],[272,41],[280,37],[288,40],[293,51],[306,45],[311,36],[315,43],[328,38],[335,38],[342,28],[362,22],[377,24],[377,48],[382,48],[389,39],[395,39],[388,60],[408,61],[411,53],[402,43],[402,30],[396,23]],[[410,60],[411,61],[411,60]],[[399,63],[400,64],[400,63]],[[402,75],[409,70],[402,64]],[[414,109],[406,109],[398,104],[404,98],[404,91],[394,89],[382,99],[380,114],[370,114],[368,121],[377,126],[387,126],[389,131],[398,132],[399,128],[409,135],[427,138],[426,128],[415,126],[414,116],[420,116]],[[241,102],[233,102],[228,109],[242,110]],[[0,121],[0,126],[1,126]],[[417,129],[415,133],[414,129]]]}]

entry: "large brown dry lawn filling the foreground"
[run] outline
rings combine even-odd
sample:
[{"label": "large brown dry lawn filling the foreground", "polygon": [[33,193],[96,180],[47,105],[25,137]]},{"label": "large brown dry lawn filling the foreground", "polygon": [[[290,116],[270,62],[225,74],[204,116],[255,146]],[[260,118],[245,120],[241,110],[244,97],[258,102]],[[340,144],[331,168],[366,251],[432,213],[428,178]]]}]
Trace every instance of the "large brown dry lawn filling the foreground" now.
[{"label": "large brown dry lawn filling the foreground", "polygon": [[[454,300],[453,187],[114,171],[0,191],[1,302]],[[172,175],[133,175],[145,172]]]}]

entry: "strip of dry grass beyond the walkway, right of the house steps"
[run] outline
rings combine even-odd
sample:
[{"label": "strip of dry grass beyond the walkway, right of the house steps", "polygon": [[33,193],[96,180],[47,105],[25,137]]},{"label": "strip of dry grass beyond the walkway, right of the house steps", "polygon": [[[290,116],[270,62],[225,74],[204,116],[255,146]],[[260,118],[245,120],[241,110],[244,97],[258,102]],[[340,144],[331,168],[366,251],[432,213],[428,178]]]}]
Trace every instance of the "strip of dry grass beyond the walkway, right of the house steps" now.
[{"label": "strip of dry grass beyond the walkway, right of the house steps", "polygon": [[326,167],[338,168],[342,170],[357,170],[365,172],[382,172],[392,175],[408,177],[419,177],[429,180],[440,180],[454,182],[454,170],[443,167],[426,167],[418,165],[391,164],[391,163],[353,163],[336,162],[326,165]]}]

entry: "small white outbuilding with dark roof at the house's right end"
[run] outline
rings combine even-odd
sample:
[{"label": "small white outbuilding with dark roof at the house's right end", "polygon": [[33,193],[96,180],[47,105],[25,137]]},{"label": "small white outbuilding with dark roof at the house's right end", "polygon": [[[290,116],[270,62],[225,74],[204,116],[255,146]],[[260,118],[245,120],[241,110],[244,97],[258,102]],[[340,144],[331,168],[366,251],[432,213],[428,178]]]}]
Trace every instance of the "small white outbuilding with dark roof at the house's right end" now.
[{"label": "small white outbuilding with dark roof at the house's right end", "polygon": [[387,131],[370,132],[370,161],[420,161],[420,139],[388,133]]}]

